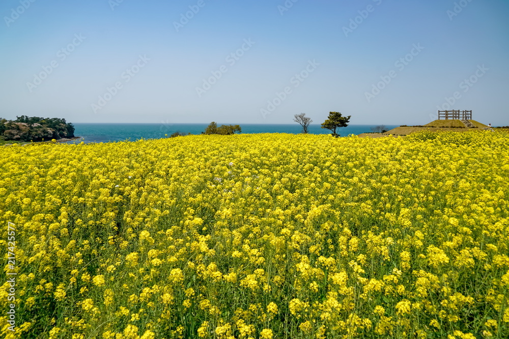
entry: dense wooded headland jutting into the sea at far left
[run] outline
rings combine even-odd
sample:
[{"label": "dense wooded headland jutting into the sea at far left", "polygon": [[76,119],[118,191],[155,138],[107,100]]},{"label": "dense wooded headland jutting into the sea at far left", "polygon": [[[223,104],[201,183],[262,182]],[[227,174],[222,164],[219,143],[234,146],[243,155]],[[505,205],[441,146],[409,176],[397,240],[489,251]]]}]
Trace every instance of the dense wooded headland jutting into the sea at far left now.
[{"label": "dense wooded headland jutting into the sea at far left", "polygon": [[42,141],[73,138],[74,126],[65,119],[38,116],[16,116],[16,120],[0,118],[0,138],[15,141]]}]

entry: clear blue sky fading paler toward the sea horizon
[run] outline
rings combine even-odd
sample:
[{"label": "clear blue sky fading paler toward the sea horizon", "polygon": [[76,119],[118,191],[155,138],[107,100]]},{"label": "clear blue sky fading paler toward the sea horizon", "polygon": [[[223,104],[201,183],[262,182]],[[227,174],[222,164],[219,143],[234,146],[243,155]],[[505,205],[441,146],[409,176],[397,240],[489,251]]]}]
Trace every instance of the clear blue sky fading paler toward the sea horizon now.
[{"label": "clear blue sky fading paler toward the sea horizon", "polygon": [[509,125],[506,0],[120,1],[4,0],[0,116]]}]

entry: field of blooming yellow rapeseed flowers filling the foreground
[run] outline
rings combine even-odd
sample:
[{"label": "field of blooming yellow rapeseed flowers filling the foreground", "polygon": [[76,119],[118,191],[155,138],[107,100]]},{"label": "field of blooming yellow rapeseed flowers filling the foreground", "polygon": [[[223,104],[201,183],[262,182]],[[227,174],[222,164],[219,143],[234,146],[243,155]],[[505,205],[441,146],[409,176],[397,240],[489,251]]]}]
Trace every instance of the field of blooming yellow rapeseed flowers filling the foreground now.
[{"label": "field of blooming yellow rapeseed flowers filling the foreground", "polygon": [[5,146],[1,335],[507,338],[508,179],[507,133]]}]

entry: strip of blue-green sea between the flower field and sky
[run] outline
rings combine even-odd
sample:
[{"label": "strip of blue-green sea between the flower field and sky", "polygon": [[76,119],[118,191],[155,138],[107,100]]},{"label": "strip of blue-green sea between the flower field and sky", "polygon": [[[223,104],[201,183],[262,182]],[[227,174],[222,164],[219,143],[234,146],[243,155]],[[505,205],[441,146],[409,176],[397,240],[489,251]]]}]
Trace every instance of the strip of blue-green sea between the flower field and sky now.
[{"label": "strip of blue-green sea between the flower field and sky", "polygon": [[[73,142],[114,142],[138,139],[159,139],[175,132],[201,134],[208,124],[73,124],[74,135],[81,137]],[[220,124],[218,124],[220,125]],[[371,132],[376,125],[349,125],[338,129],[338,134],[346,137],[350,134]],[[302,127],[298,124],[240,124],[242,133],[301,133]],[[397,126],[386,125],[387,130]],[[330,134],[329,130],[322,129],[320,125],[310,125],[311,134]]]}]

